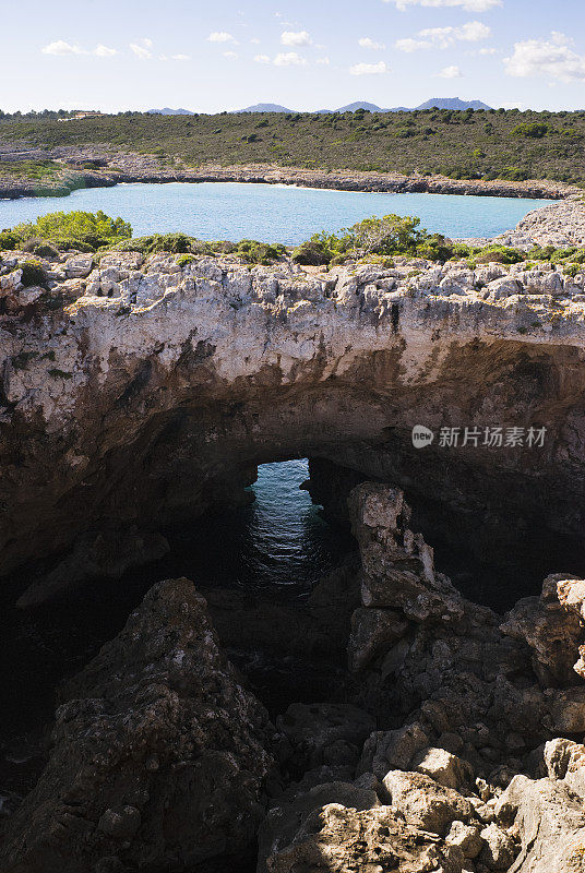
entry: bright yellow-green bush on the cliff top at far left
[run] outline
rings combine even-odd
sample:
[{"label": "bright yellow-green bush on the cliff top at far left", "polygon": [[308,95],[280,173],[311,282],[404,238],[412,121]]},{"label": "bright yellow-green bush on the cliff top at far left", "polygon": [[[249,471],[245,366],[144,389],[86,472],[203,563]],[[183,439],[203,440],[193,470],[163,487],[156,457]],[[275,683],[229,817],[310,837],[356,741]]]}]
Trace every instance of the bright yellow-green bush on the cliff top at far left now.
[{"label": "bright yellow-green bush on the cliff top at far left", "polygon": [[[2,232],[4,248],[23,248],[29,240],[48,242],[61,251],[96,251],[132,236],[131,226],[122,218],[110,218],[104,212],[53,212],[36,222],[16,225]],[[14,244],[15,243],[15,244]]]}]

